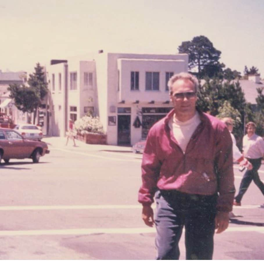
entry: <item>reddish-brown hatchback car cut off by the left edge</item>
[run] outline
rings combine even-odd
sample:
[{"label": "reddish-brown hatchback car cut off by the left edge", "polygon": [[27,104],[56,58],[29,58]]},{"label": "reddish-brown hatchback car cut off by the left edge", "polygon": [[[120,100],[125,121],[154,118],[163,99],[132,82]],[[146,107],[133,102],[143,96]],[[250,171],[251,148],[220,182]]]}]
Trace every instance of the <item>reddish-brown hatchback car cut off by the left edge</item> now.
[{"label": "reddish-brown hatchback car cut off by the left edge", "polygon": [[0,163],[1,159],[9,163],[10,159],[32,159],[34,163],[48,154],[48,145],[43,141],[24,139],[13,129],[0,128]]}]

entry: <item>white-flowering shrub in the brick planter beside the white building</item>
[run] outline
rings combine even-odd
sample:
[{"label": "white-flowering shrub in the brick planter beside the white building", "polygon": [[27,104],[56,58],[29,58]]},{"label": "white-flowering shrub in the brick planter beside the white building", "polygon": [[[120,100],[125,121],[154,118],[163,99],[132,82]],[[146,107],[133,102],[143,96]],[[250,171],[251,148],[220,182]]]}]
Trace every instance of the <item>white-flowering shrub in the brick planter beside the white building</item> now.
[{"label": "white-flowering shrub in the brick planter beside the white building", "polygon": [[78,119],[74,123],[74,127],[78,134],[85,135],[88,133],[94,134],[105,134],[103,130],[103,125],[100,123],[98,116],[86,115]]}]

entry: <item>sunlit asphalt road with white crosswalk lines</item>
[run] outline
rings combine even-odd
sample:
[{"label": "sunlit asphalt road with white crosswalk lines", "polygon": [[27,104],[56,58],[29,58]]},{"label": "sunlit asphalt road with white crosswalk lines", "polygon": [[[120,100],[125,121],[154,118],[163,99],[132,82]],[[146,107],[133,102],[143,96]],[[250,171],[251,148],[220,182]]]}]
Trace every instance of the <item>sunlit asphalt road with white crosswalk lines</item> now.
[{"label": "sunlit asphalt road with white crosswalk lines", "polygon": [[[155,259],[155,228],[144,225],[137,203],[141,155],[46,141],[51,153],[39,164],[0,166],[0,259]],[[264,181],[263,165],[259,172]],[[264,199],[253,182],[233,212],[227,231],[215,235],[213,258],[263,260]],[[184,236],[180,250],[185,259]]]}]

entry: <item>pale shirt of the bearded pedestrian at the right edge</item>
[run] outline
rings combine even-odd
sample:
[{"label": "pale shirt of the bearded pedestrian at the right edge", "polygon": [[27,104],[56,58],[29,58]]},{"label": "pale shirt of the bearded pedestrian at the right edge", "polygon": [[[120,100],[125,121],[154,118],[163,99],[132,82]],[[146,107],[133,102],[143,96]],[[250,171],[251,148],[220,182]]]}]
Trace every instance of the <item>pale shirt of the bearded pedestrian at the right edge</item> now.
[{"label": "pale shirt of the bearded pedestrian at the right edge", "polygon": [[264,156],[264,140],[262,137],[253,134],[251,137],[243,137],[244,157],[249,159],[258,159]]}]

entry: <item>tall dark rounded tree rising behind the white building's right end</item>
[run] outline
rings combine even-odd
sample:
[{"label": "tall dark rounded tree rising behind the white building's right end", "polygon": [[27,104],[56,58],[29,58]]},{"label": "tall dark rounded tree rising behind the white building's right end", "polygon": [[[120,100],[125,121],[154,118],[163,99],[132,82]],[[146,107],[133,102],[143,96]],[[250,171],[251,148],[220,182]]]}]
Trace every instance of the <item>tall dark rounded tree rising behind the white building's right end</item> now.
[{"label": "tall dark rounded tree rising behind the white building's right end", "polygon": [[189,70],[197,69],[199,78],[215,76],[221,68],[222,64],[219,63],[221,51],[215,49],[213,43],[205,36],[197,36],[191,41],[182,42],[178,51],[189,55]]}]

